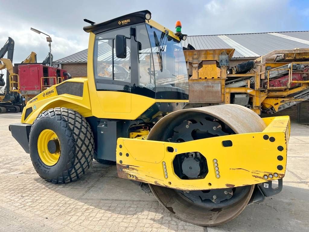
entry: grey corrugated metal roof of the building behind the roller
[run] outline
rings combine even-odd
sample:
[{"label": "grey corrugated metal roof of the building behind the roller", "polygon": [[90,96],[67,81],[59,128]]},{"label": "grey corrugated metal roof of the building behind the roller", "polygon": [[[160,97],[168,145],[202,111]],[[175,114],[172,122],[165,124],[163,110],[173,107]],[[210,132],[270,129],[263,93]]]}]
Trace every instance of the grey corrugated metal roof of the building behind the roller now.
[{"label": "grey corrugated metal roof of the building behind the roller", "polygon": [[[182,45],[188,44],[195,49],[235,48],[233,58],[259,57],[278,49],[309,48],[309,31],[188,36]],[[55,62],[87,62],[87,49]]]}]

